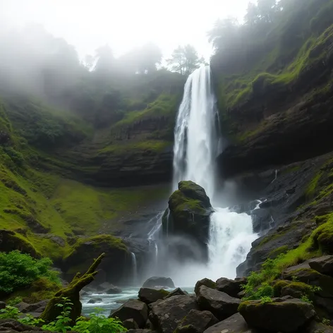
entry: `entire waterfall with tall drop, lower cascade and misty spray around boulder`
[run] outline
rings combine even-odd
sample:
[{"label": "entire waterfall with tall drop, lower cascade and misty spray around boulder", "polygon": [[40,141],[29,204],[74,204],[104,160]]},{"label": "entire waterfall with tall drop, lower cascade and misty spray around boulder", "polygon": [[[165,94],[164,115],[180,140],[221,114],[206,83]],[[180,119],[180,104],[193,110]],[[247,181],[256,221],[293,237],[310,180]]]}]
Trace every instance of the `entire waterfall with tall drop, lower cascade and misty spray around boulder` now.
[{"label": "entire waterfall with tall drop, lower cascade and misty spray around boulder", "polygon": [[[207,238],[207,257],[200,257],[198,244],[190,237],[172,233],[169,210],[159,214],[148,234],[154,244],[154,258],[146,276],[170,276],[178,286],[194,286],[204,277],[236,277],[236,267],[246,260],[253,233],[250,215],[221,208],[215,159],[221,149],[219,117],[211,87],[210,67],[202,66],[186,81],[174,131],[174,181],[193,181],[205,189],[212,202]],[[166,223],[162,226],[162,219]],[[194,215],[193,215],[194,223]],[[163,230],[165,229],[165,230]],[[177,249],[177,250],[175,250]],[[187,255],[187,260],[182,260]]]}]

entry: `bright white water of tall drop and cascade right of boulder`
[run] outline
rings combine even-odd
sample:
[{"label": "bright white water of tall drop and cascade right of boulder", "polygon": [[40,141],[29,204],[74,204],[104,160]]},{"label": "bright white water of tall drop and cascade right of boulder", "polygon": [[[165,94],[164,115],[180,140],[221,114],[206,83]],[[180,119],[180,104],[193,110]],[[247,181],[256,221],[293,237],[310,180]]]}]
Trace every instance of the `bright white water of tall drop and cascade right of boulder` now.
[{"label": "bright white water of tall drop and cascade right of boulder", "polygon": [[174,263],[171,277],[178,284],[194,285],[203,277],[213,280],[236,277],[236,267],[246,260],[251,243],[258,238],[253,234],[252,219],[248,214],[230,212],[227,208],[217,207],[219,204],[214,202],[217,190],[215,159],[219,153],[218,118],[214,105],[210,67],[201,67],[188,77],[178,111],[173,186],[176,189],[181,180],[198,183],[205,188],[215,212],[210,217],[207,265]]}]

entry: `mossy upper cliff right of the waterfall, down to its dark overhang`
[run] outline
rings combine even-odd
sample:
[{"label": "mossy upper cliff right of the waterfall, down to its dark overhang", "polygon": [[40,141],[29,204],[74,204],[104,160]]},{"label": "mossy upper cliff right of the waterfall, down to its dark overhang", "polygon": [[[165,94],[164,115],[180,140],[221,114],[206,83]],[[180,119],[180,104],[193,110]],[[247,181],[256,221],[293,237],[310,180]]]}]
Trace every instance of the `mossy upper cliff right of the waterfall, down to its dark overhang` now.
[{"label": "mossy upper cliff right of the waterfall, down to its dark overhang", "polygon": [[236,54],[212,57],[230,142],[219,159],[224,176],[331,150],[333,1],[292,0],[282,9],[258,31],[244,25],[239,33],[251,43]]}]

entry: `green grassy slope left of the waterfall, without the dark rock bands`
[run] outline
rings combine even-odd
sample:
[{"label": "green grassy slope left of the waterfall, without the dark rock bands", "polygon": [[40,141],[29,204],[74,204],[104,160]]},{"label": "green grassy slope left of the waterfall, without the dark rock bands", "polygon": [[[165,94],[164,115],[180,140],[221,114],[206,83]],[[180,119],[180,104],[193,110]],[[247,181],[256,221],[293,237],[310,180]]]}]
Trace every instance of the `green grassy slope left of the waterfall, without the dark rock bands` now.
[{"label": "green grassy slope left of the waterfall, without the dark rock bands", "polygon": [[[143,111],[128,111],[123,121],[111,126],[110,133],[112,128],[131,126],[147,117],[173,119],[176,96],[165,93]],[[165,186],[95,188],[69,179],[68,169],[81,166],[68,164],[54,152],[92,140],[93,128],[78,116],[30,98],[6,96],[4,101],[0,102],[0,132],[6,132],[9,140],[0,145],[0,229],[16,231],[15,237],[28,241],[40,255],[63,258],[71,250],[68,236],[93,236],[102,227],[109,232],[119,230],[117,219],[124,214],[169,195]],[[166,131],[169,131],[167,126]],[[145,133],[138,140],[126,143],[104,140],[95,154],[112,158],[140,150],[155,152],[169,144],[165,136]],[[40,231],[33,231],[31,222],[48,229],[47,234],[63,238],[66,245],[59,246],[37,234]]]}]

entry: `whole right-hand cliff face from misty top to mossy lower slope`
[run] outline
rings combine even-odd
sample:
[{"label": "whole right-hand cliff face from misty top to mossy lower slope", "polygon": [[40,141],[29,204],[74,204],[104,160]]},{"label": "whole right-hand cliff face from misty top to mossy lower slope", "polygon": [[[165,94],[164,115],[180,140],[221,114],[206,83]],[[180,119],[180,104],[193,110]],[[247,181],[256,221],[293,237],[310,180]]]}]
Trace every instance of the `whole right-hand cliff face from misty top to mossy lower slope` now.
[{"label": "whole right-hand cliff face from misty top to mossy lower slope", "polygon": [[333,1],[284,4],[261,41],[212,58],[228,143],[219,171],[265,198],[240,276],[332,253]]}]

